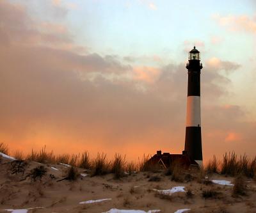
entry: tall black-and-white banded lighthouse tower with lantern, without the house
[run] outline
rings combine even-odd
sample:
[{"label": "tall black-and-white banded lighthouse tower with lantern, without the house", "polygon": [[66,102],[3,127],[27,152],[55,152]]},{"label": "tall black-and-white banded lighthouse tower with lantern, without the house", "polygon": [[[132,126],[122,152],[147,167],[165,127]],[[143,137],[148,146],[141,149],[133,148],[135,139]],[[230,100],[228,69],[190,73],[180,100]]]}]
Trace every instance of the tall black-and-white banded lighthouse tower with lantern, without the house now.
[{"label": "tall black-and-white banded lighthouse tower with lantern, without the house", "polygon": [[200,52],[194,47],[189,52],[188,63],[188,99],[186,117],[185,152],[191,160],[202,165],[202,136],[200,112],[200,74],[203,68],[200,61]]}]

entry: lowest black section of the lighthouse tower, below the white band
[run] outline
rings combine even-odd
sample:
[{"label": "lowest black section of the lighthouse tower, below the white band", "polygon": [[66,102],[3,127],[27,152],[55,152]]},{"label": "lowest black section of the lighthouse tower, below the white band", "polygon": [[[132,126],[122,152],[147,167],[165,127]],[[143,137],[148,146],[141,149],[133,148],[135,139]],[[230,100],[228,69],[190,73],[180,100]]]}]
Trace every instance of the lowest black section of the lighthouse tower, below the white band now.
[{"label": "lowest black section of the lighthouse tower, below the white band", "polygon": [[185,151],[191,159],[203,160],[201,127],[186,127]]}]

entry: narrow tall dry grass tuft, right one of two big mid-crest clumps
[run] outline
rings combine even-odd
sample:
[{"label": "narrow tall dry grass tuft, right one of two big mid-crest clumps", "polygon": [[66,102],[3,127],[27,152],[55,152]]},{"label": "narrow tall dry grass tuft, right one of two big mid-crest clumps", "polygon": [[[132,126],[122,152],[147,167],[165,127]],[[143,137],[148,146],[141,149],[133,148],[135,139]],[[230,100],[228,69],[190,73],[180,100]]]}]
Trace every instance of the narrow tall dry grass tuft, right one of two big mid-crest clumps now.
[{"label": "narrow tall dry grass tuft, right one of two big mid-crest clumps", "polygon": [[115,154],[115,159],[111,165],[111,173],[114,173],[114,178],[124,177],[125,164],[125,157],[123,158],[120,154]]}]

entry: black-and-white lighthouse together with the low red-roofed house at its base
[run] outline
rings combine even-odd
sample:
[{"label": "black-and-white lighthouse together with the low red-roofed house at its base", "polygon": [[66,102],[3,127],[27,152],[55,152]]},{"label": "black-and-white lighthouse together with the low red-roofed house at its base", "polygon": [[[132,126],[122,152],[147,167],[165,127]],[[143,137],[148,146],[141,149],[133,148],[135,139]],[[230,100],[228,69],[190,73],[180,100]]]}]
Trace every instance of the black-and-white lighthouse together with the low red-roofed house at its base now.
[{"label": "black-and-white lighthouse together with the low red-roofed house at its base", "polygon": [[161,150],[158,150],[148,160],[149,164],[159,164],[163,168],[168,168],[172,162],[179,162],[180,166],[186,168],[203,164],[200,110],[200,74],[203,66],[200,61],[200,52],[196,47],[189,52],[186,68],[188,69],[188,99],[185,149],[182,154],[168,152],[162,154]]}]

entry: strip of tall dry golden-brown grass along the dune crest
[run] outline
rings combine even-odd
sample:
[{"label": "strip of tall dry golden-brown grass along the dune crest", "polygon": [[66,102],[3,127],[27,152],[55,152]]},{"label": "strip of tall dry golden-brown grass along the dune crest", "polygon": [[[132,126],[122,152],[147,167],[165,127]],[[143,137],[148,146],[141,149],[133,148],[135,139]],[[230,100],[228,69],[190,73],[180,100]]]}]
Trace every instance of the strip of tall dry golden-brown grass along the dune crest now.
[{"label": "strip of tall dry golden-brown grass along the dune crest", "polygon": [[[8,145],[0,143],[0,152],[3,154],[10,154]],[[92,171],[92,176],[94,175],[105,175],[107,173],[113,173],[115,178],[120,178],[124,176],[127,172],[131,175],[138,171],[150,171],[153,173],[164,171],[166,175],[172,175],[172,180],[182,182],[182,167],[173,163],[170,168],[163,170],[158,164],[152,164],[148,162],[150,155],[143,155],[143,157],[138,159],[138,162],[126,162],[125,156],[116,154],[113,161],[107,159],[106,154],[97,154],[95,159],[90,159],[89,152],[84,151],[80,154],[61,154],[55,155],[53,151],[47,152],[46,146],[41,150],[31,152],[24,155],[19,150],[13,153],[13,157],[18,160],[36,161],[44,164],[69,164],[70,166],[83,168]],[[202,170],[204,172],[202,173]],[[221,160],[217,159],[214,155],[204,168],[200,168],[200,173],[203,176],[211,173],[220,173],[221,175],[236,177],[237,175],[243,174],[248,178],[256,178],[256,157],[250,159],[246,154],[237,157],[235,152],[225,153]],[[200,176],[202,176],[200,175]],[[202,177],[199,177],[202,180]]]}]

